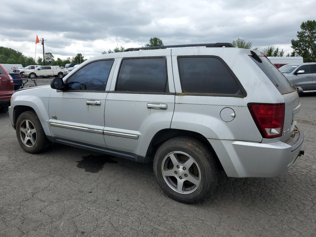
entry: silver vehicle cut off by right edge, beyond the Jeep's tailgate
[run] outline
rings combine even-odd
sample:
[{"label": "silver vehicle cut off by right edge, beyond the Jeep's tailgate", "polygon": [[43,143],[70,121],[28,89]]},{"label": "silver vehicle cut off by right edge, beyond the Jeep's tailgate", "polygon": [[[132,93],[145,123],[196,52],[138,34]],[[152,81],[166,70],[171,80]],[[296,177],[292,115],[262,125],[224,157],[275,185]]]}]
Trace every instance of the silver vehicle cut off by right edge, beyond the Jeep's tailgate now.
[{"label": "silver vehicle cut off by right edge, beyond the Jeep's tailgate", "polygon": [[287,64],[279,70],[303,92],[316,92],[316,63]]}]

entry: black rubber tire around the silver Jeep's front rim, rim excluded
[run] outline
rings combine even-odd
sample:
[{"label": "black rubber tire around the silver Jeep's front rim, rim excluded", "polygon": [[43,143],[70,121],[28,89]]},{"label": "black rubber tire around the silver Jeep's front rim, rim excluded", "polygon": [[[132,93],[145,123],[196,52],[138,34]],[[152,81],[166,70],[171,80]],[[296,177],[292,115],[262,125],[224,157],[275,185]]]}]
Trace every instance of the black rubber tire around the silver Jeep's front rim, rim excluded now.
[{"label": "black rubber tire around the silver Jeep's front rim, rim excluded", "polygon": [[[36,130],[36,142],[33,147],[25,146],[20,137],[20,125],[24,119],[30,120],[33,123]],[[42,152],[45,149],[45,142],[47,139],[46,134],[35,112],[26,111],[26,112],[21,113],[21,115],[16,121],[15,132],[16,132],[16,137],[18,139],[18,142],[21,148],[27,151],[28,153],[36,154],[36,153]]]}]

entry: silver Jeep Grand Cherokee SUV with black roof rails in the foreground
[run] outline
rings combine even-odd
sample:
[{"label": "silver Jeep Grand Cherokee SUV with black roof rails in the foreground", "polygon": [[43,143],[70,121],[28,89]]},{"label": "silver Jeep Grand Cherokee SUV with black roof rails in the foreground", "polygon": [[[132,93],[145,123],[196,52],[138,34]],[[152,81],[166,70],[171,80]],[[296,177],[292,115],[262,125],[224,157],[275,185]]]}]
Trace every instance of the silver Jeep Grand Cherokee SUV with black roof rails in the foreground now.
[{"label": "silver Jeep Grand Cherokee SUV with black roof rails in the foreground", "polygon": [[229,43],[125,51],[15,92],[21,147],[39,153],[56,142],[153,161],[161,189],[184,203],[210,195],[220,169],[273,177],[303,153],[298,92],[263,53]]}]

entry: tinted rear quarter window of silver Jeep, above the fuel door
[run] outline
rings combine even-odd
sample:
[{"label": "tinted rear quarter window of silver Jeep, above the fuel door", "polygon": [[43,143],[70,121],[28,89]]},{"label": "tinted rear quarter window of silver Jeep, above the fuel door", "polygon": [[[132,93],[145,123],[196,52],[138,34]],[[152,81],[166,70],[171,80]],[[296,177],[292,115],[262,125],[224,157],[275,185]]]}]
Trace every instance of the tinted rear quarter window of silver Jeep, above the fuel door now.
[{"label": "tinted rear quarter window of silver Jeep, above the fuel door", "polygon": [[178,58],[183,93],[243,95],[227,67],[214,57]]}]

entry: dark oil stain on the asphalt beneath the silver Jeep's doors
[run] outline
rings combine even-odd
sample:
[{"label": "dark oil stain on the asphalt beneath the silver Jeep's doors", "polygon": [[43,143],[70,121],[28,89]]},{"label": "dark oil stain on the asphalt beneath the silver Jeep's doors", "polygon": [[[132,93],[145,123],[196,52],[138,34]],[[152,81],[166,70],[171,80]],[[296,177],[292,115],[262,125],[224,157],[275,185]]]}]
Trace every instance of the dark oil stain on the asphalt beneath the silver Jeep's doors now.
[{"label": "dark oil stain on the asphalt beneath the silver Jeep's doors", "polygon": [[78,162],[77,167],[84,169],[86,172],[98,173],[102,170],[105,163],[116,164],[118,161],[112,160],[110,155],[87,155],[82,156],[81,161]]}]

